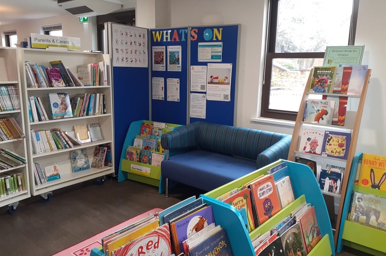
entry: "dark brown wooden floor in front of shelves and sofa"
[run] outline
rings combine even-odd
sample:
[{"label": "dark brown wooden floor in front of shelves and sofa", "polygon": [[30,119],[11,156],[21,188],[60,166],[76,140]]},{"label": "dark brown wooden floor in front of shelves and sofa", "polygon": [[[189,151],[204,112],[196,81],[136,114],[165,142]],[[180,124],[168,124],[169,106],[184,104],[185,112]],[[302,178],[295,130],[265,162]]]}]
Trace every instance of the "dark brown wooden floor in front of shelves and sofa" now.
[{"label": "dark brown wooden floor in front of shelves and sofa", "polygon": [[[149,209],[203,193],[179,185],[165,198],[157,187],[109,178],[103,185],[92,180],[55,190],[49,202],[35,196],[21,201],[13,215],[0,208],[0,255],[52,255]],[[345,248],[338,255],[365,254]]]}]

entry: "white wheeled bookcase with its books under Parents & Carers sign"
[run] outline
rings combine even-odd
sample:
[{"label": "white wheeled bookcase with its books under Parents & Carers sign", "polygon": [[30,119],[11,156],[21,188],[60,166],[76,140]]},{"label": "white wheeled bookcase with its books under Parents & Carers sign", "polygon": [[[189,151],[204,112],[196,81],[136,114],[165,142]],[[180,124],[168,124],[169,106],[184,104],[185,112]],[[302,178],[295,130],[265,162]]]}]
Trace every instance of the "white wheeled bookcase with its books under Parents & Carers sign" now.
[{"label": "white wheeled bookcase with its books under Parents & Carers sign", "polygon": [[[103,181],[102,177],[114,172],[113,159],[111,160],[111,166],[105,165],[102,168],[78,167],[88,166],[85,161],[92,159],[95,147],[109,143],[111,151],[114,149],[111,84],[108,82],[107,85],[105,83],[94,83],[94,86],[85,86],[84,84],[82,86],[82,83],[76,81],[75,78],[71,78],[73,82],[68,82],[67,79],[70,79],[70,76],[68,73],[64,75],[63,72],[66,70],[76,72],[78,66],[88,63],[104,62],[108,65],[109,56],[100,53],[41,49],[20,49],[20,51],[24,113],[26,113],[24,118],[26,131],[28,131],[26,136],[31,194],[33,196],[41,195],[47,199],[51,191],[58,188],[90,179],[101,179]],[[58,63],[63,63],[65,68],[59,68],[58,70],[65,81],[65,86],[31,86],[25,63],[29,63],[29,65],[37,63],[37,66],[43,67],[43,70],[44,67],[56,67]],[[94,79],[98,79],[96,75],[98,69],[95,70],[94,68],[90,72],[94,72]],[[107,73],[102,77],[107,78]],[[101,78],[101,75],[99,75],[99,78]],[[85,95],[90,95],[90,97]],[[99,95],[101,100],[94,101],[95,103],[92,106],[93,108],[103,109],[103,111],[88,112],[88,110],[91,110],[91,104],[89,103],[91,95]],[[75,103],[73,103],[74,99],[76,99]],[[71,105],[68,104],[69,100],[72,101]],[[80,104],[79,102],[82,101],[83,104]],[[37,119],[33,118],[33,111],[30,110],[34,102],[38,115]],[[57,111],[62,111],[65,115],[56,114]],[[98,131],[89,129],[91,124],[95,124],[100,129]],[[79,134],[79,130],[75,130],[75,127],[78,129],[85,127],[84,134]],[[90,134],[95,131],[98,134]],[[43,147],[46,150],[42,150],[42,144],[38,142],[39,139],[43,142]],[[72,153],[80,150],[84,152],[86,157],[72,159],[71,156],[74,155]],[[78,156],[84,156],[84,154],[78,154]],[[113,152],[111,152],[112,155]],[[56,166],[56,172],[59,172],[60,178],[48,181],[48,177],[44,177],[44,175],[47,175],[48,170],[51,170],[54,166]],[[75,169],[76,172],[74,172]],[[37,172],[37,175],[35,172]],[[42,174],[43,180],[41,182],[37,181],[36,177],[42,176]]]}]

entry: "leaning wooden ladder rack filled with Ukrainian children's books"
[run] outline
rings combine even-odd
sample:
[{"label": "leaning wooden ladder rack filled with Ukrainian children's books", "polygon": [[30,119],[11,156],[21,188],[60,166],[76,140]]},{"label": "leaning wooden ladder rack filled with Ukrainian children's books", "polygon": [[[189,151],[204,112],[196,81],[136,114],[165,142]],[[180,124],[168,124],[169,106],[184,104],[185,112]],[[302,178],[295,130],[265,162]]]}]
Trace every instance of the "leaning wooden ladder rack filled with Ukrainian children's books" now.
[{"label": "leaning wooden ladder rack filled with Ukrainian children's books", "polygon": [[[362,118],[364,100],[368,88],[371,70],[368,69],[361,86],[361,93],[336,94],[317,93],[310,87],[313,70],[308,77],[304,94],[296,118],[288,160],[298,161],[314,166],[319,188],[329,206],[330,218],[338,220],[336,230],[339,230],[341,212],[346,195],[346,187],[350,177],[350,167],[355,156],[357,138]],[[350,86],[349,86],[350,88]],[[319,102],[319,103],[317,103]],[[326,113],[317,110],[316,105],[332,104],[327,112],[331,117],[329,123],[320,121],[328,117]],[[338,113],[334,115],[334,104]],[[343,111],[341,106],[344,106]],[[307,111],[313,108],[317,117],[307,118]],[[341,112],[342,111],[342,112]],[[322,118],[323,117],[323,118]],[[338,119],[339,120],[338,120]],[[334,199],[340,201],[339,209],[335,209]],[[335,244],[338,232],[335,233]]]}]

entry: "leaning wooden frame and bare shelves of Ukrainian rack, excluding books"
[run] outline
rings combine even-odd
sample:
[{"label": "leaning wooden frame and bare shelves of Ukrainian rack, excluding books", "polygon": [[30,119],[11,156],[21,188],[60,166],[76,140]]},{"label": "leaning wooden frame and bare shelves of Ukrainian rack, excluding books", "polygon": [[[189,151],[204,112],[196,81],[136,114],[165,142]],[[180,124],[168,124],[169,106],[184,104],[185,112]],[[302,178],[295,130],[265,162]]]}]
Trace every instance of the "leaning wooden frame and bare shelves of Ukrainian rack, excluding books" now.
[{"label": "leaning wooden frame and bare shelves of Ukrainian rack, excluding books", "polygon": [[[327,206],[329,208],[330,218],[335,218],[335,205],[334,205],[334,198],[339,198],[339,209],[337,211],[337,222],[336,222],[336,230],[339,230],[340,222],[341,222],[341,216],[342,216],[342,209],[344,204],[344,198],[346,196],[346,187],[348,186],[348,181],[350,177],[350,169],[352,165],[352,161],[355,156],[355,150],[357,146],[357,140],[358,140],[358,134],[359,134],[359,128],[360,128],[360,122],[362,119],[362,113],[363,113],[363,106],[364,106],[364,100],[366,97],[366,92],[368,89],[368,84],[370,80],[371,75],[371,69],[367,71],[366,78],[363,84],[362,93],[361,95],[342,95],[342,94],[330,94],[330,93],[313,93],[310,92],[310,87],[308,84],[311,83],[313,70],[310,72],[310,76],[308,77],[302,101],[300,103],[299,112],[296,118],[295,126],[294,126],[294,132],[292,135],[292,141],[290,146],[290,152],[288,153],[288,160],[295,161],[295,158],[297,156],[304,157],[312,160],[318,160],[322,162],[322,168],[325,168],[326,164],[333,164],[333,165],[339,165],[339,166],[345,166],[343,180],[341,182],[341,189],[340,189],[340,195],[329,193],[328,191],[321,191],[324,195],[324,198],[327,202]],[[304,122],[303,116],[304,116],[304,108],[306,101],[311,97],[320,97],[322,95],[325,95],[327,97],[336,97],[337,100],[339,99],[339,96],[346,96],[348,97],[348,106],[347,111],[345,115],[345,122],[344,126],[338,126],[338,125],[325,125],[325,124],[319,124],[319,123],[310,123],[310,122]],[[344,159],[337,159],[333,157],[324,157],[314,154],[307,154],[303,152],[299,152],[299,143],[300,143],[300,134],[303,129],[303,127],[309,127],[317,130],[329,130],[329,131],[336,131],[336,132],[345,132],[345,133],[351,133],[351,143],[348,151],[348,157],[347,160]],[[317,189],[320,189],[317,187]],[[338,232],[335,232],[334,241],[335,244],[337,243],[338,239]]]}]

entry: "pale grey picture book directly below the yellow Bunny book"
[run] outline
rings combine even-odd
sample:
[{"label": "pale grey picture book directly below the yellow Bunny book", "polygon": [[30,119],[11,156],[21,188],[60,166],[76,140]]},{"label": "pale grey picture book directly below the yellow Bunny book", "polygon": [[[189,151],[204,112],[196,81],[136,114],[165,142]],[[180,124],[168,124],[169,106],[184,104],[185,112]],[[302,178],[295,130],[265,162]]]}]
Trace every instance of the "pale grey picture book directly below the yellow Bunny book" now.
[{"label": "pale grey picture book directly below the yellow Bunny book", "polygon": [[386,231],[386,198],[354,191],[349,220]]}]

